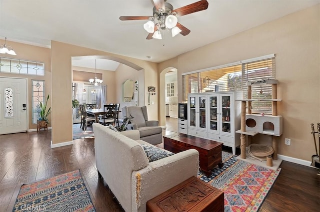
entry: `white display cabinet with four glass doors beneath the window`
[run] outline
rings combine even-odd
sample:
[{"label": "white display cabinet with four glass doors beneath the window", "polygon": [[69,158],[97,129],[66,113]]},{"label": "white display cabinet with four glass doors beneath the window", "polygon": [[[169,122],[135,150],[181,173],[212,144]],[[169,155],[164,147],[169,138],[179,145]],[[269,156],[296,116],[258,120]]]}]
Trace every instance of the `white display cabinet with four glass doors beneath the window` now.
[{"label": "white display cabinet with four glass doors beneath the window", "polygon": [[234,131],[240,129],[241,105],[234,99],[240,96],[235,91],[189,94],[187,133],[222,142],[235,155],[240,137]]}]

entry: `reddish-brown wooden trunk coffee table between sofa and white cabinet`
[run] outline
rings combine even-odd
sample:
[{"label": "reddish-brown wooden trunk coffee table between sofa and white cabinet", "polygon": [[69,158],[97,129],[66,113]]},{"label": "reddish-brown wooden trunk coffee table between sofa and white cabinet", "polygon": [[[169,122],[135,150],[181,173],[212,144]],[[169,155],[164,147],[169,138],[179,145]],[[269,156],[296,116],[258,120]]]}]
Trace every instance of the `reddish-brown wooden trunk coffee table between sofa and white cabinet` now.
[{"label": "reddish-brown wooden trunk coffee table between sofa and white cabinet", "polygon": [[163,147],[170,152],[178,153],[188,149],[196,149],[199,152],[200,169],[206,175],[210,175],[215,166],[222,168],[222,145],[221,142],[182,133],[163,136]]}]

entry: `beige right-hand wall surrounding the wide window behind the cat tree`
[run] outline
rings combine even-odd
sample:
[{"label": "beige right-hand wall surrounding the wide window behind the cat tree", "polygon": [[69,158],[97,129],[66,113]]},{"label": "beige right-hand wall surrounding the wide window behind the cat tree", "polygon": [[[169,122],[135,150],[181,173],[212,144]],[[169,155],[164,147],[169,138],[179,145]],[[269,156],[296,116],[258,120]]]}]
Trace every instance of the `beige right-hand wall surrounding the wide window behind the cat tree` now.
[{"label": "beige right-hand wall surrounding the wide window behind the cat tree", "polygon": [[[315,151],[310,123],[320,121],[320,4],[181,54],[160,63],[159,71],[169,66],[178,69],[180,102],[181,73],[271,53],[276,55],[278,98],[282,99],[278,104],[278,114],[283,116],[278,153],[310,161]],[[284,145],[284,138],[291,139],[290,146]],[[269,142],[270,136],[254,140]]]}]

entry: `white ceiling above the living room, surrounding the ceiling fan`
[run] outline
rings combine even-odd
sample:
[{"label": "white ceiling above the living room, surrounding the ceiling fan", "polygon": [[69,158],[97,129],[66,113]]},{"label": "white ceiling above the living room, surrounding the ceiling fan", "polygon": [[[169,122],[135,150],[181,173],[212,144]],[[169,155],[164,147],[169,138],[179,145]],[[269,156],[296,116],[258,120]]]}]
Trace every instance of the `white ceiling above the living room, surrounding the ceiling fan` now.
[{"label": "white ceiling above the living room, surrounding the ceiling fan", "polygon": [[[173,8],[196,1],[168,0]],[[0,0],[0,37],[7,37],[8,44],[12,40],[49,47],[50,40],[55,40],[161,62],[320,0],[208,0],[206,10],[178,17],[178,22],[191,30],[188,35],[146,40],[148,33],[143,29],[146,20],[121,21],[119,16],[151,16],[152,2]],[[19,54],[17,50],[16,53]]]}]

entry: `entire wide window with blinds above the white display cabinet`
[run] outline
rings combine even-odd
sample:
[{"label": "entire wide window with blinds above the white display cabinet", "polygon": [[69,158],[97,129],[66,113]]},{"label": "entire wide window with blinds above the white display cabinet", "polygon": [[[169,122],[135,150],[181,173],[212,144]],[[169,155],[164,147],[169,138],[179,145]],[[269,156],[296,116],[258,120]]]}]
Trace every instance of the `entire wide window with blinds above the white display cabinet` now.
[{"label": "entire wide window with blinds above the white display cabinet", "polygon": [[[263,83],[263,80],[275,78],[275,58],[252,60],[254,59],[227,67],[182,75],[184,102],[187,102],[188,93],[214,91],[242,91],[243,98],[247,99],[247,81],[255,83],[251,86],[252,99],[271,99],[271,85]],[[271,101],[254,101],[251,105],[252,112],[271,113],[271,105]]]}]

